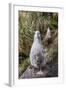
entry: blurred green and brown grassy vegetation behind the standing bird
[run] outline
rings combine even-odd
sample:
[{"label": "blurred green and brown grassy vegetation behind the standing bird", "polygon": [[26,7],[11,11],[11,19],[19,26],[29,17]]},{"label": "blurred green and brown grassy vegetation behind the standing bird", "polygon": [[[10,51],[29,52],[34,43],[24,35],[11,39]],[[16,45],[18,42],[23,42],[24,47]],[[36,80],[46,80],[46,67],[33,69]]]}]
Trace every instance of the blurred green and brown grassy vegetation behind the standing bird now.
[{"label": "blurred green and brown grassy vegetation behind the standing bird", "polygon": [[[19,76],[30,64],[28,58],[36,30],[41,33],[47,63],[58,63],[58,13],[19,11]],[[47,28],[50,28],[51,39],[45,39]]]}]

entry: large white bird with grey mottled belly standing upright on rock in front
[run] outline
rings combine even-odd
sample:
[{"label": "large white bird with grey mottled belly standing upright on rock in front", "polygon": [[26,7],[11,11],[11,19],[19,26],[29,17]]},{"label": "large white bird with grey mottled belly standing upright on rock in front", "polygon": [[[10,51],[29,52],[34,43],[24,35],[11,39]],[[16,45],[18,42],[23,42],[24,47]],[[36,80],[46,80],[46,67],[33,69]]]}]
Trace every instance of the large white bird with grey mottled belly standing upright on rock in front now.
[{"label": "large white bird with grey mottled belly standing upright on rock in front", "polygon": [[35,68],[40,68],[46,64],[39,31],[35,31],[34,34],[34,40],[30,50],[30,63]]}]

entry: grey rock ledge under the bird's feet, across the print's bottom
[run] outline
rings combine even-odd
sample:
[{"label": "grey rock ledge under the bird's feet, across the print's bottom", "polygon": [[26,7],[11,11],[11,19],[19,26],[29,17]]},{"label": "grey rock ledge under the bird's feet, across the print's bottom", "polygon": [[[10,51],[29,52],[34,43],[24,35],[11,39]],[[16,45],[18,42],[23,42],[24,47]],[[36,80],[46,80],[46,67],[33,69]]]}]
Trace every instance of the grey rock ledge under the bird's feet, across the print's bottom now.
[{"label": "grey rock ledge under the bird's feet, across the print's bottom", "polygon": [[46,77],[58,77],[58,64],[48,64],[42,71],[37,68],[28,66],[26,71],[21,75],[22,78],[46,78]]}]

